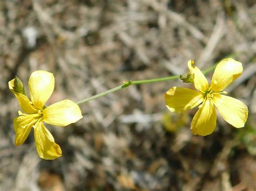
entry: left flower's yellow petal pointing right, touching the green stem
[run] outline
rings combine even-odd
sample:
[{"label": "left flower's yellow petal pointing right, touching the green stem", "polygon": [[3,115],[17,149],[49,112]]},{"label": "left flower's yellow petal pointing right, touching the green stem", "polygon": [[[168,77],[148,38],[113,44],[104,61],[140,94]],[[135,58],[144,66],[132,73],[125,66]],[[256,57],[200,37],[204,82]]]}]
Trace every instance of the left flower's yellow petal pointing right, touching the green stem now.
[{"label": "left flower's yellow petal pointing right, touching the green stem", "polygon": [[45,123],[56,126],[66,126],[83,117],[78,105],[71,100],[63,100],[50,105],[43,110],[43,115]]}]

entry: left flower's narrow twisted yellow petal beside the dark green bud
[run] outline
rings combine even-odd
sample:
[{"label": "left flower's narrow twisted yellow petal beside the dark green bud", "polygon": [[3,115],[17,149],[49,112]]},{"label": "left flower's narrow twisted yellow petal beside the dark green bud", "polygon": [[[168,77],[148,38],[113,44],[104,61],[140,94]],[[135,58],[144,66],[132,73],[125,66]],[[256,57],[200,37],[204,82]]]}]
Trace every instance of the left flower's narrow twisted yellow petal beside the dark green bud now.
[{"label": "left flower's narrow twisted yellow petal beside the dark green bud", "polygon": [[33,105],[31,105],[29,98],[21,93],[17,93],[13,89],[14,79],[9,81],[8,85],[9,85],[9,89],[11,90],[11,92],[16,96],[16,98],[19,102],[19,105],[21,106],[22,111],[25,112],[26,114],[36,114],[37,110],[35,107],[33,107]]}]

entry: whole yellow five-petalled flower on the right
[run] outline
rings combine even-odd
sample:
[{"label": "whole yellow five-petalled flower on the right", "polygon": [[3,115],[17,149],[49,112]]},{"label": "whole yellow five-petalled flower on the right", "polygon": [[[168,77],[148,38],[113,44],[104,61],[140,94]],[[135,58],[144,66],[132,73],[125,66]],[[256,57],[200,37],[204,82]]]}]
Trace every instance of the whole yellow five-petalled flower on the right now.
[{"label": "whole yellow five-petalled flower on the right", "polygon": [[242,74],[242,63],[231,58],[219,62],[210,86],[204,74],[193,63],[190,60],[187,65],[190,73],[194,74],[194,86],[199,91],[172,87],[165,94],[166,107],[172,112],[181,112],[203,102],[192,119],[191,129],[194,135],[206,136],[214,131],[217,120],[214,105],[227,123],[235,128],[244,127],[248,108],[241,101],[223,95],[226,94],[223,90]]}]

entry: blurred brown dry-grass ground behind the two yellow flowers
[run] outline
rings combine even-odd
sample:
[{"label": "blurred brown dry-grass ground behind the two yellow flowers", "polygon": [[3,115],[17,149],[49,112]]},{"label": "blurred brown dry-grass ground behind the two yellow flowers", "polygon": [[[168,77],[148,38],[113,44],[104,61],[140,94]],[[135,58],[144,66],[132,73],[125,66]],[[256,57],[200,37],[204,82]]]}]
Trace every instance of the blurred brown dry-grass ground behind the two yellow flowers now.
[{"label": "blurred brown dry-grass ground behind the two yellow flowers", "polygon": [[[253,0],[0,1],[0,190],[256,190],[255,16]],[[244,66],[226,91],[248,106],[245,128],[218,116],[212,135],[193,136],[197,109],[165,107],[169,88],[193,88],[176,80],[128,87],[80,105],[75,124],[47,126],[56,160],[38,157],[33,131],[14,146],[15,75],[28,91],[33,71],[52,72],[50,105],[227,56]]]}]

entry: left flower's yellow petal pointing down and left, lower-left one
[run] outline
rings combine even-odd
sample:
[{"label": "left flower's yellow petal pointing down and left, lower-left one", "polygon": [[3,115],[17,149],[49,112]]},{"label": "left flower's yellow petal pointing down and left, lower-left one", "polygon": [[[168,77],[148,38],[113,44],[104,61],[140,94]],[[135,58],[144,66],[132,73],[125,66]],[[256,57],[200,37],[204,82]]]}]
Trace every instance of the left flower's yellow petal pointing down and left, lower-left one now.
[{"label": "left flower's yellow petal pointing down and left, lower-left one", "polygon": [[14,118],[15,146],[19,146],[29,136],[32,125],[36,123],[33,117],[19,116]]}]

